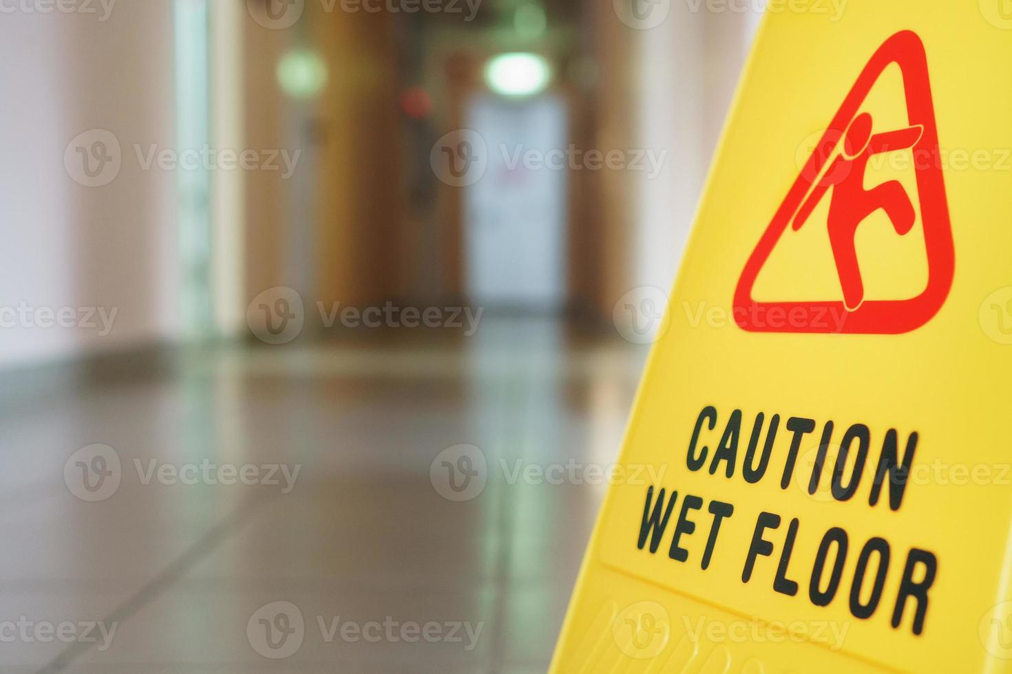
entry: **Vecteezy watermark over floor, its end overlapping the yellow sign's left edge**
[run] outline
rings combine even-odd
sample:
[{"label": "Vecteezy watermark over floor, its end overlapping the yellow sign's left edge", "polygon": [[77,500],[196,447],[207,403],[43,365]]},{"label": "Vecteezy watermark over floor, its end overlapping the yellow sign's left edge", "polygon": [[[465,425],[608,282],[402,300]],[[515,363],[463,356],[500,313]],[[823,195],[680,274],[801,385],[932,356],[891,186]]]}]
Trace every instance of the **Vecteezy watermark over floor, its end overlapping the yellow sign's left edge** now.
[{"label": "Vecteezy watermark over floor, its end overlapping the yellow sign's left edge", "polygon": [[[500,459],[498,466],[507,485],[649,485],[663,481],[667,466],[654,464],[597,464],[568,459],[565,463],[536,463],[525,459]],[[429,465],[429,480],[449,501],[478,498],[490,478],[489,461],[474,445],[454,445],[440,452]]]}]

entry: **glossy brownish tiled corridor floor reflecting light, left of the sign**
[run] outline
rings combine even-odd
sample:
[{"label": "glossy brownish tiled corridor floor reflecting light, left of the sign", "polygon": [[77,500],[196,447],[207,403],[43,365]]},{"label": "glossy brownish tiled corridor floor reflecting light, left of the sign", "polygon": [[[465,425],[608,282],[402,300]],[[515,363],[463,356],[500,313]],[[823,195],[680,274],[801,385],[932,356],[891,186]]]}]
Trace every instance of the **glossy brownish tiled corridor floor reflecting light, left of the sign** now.
[{"label": "glossy brownish tiled corridor floor reflecting light, left of the sign", "polygon": [[0,670],[542,672],[645,356],[489,318],[18,373]]}]

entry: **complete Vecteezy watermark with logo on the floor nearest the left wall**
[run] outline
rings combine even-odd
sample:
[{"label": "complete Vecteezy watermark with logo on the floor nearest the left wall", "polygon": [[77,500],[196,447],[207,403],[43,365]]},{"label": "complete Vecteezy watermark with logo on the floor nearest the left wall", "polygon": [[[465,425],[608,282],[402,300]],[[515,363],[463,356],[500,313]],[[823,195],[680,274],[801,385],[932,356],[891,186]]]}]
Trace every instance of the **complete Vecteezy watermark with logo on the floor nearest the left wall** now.
[{"label": "complete Vecteezy watermark with logo on the floor nearest the left wall", "polygon": [[[198,463],[174,464],[158,459],[134,459],[138,482],[164,486],[235,485],[279,487],[282,494],[296,488],[301,464],[230,464],[203,459]],[[108,445],[89,445],[70,456],[64,464],[64,483],[83,501],[97,502],[110,498],[123,478],[119,454]]]}]

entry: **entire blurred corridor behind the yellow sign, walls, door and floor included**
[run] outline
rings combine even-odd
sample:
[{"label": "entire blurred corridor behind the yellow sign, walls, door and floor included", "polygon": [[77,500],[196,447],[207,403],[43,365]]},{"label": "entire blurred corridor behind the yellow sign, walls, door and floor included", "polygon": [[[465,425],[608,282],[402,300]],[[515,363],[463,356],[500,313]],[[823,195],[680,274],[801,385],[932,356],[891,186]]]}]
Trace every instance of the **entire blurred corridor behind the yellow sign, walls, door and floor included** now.
[{"label": "entire blurred corridor behind the yellow sign, walls, door and floor included", "polygon": [[3,671],[544,671],[761,10],[0,0]]}]

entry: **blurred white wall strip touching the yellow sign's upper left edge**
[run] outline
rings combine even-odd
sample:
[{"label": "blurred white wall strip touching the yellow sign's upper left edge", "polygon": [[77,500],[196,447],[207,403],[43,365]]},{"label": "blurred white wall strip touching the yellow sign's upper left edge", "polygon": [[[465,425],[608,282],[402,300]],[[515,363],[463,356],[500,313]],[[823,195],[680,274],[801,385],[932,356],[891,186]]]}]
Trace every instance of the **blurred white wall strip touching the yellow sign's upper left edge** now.
[{"label": "blurred white wall strip touching the yellow sign's upper left edge", "polygon": [[627,288],[667,292],[674,281],[760,17],[690,5],[672,2],[664,23],[637,33],[636,145],[667,157],[657,178],[636,176]]}]

